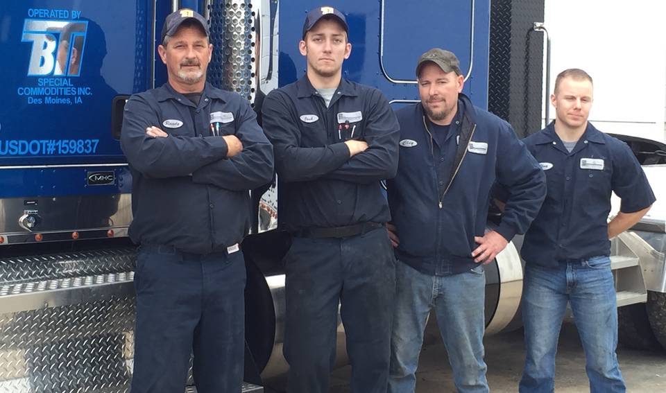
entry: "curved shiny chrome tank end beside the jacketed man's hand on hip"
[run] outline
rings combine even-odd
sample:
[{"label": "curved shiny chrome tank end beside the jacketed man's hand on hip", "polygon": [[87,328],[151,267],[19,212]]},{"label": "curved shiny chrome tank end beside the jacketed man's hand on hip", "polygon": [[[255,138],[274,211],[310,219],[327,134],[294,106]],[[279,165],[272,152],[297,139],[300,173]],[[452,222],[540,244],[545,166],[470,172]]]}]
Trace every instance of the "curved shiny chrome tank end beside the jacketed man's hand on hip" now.
[{"label": "curved shiny chrome tank end beside the jacketed man's hand on hip", "polygon": [[499,299],[493,319],[486,326],[486,334],[499,333],[509,325],[522,297],[522,263],[513,242],[497,254],[495,261],[499,270]]}]

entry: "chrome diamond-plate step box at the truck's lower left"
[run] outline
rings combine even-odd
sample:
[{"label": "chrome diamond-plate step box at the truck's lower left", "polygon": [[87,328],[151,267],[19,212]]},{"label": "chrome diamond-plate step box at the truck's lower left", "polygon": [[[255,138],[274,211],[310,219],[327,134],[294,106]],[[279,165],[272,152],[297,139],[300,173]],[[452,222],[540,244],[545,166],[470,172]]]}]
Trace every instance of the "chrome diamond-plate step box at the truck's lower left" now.
[{"label": "chrome diamond-plate step box at the truck's lower left", "polygon": [[133,248],[0,259],[0,392],[127,392]]}]

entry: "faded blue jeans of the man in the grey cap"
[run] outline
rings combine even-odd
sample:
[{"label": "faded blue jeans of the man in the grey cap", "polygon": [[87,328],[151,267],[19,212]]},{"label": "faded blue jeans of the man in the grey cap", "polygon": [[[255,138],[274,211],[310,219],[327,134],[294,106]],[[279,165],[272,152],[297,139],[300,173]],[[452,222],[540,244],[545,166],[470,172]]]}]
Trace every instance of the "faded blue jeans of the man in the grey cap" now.
[{"label": "faded blue jeans of the man in the grey cap", "polygon": [[434,309],[459,392],[488,392],[484,362],[486,274],[432,276],[398,261],[389,393],[413,393],[428,315]]}]

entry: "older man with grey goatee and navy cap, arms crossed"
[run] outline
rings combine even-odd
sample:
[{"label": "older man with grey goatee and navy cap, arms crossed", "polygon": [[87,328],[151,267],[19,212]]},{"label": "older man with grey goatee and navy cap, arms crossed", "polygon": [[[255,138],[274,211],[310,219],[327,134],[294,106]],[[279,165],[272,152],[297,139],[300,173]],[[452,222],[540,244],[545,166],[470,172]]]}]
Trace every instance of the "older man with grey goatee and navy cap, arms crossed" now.
[{"label": "older man with grey goatee and navy cap, arms crossed", "polygon": [[133,95],[121,146],[133,177],[141,245],[132,393],[240,392],[248,190],[270,182],[273,149],[248,101],[206,83],[207,22],[182,9],[158,47],[169,81]]}]

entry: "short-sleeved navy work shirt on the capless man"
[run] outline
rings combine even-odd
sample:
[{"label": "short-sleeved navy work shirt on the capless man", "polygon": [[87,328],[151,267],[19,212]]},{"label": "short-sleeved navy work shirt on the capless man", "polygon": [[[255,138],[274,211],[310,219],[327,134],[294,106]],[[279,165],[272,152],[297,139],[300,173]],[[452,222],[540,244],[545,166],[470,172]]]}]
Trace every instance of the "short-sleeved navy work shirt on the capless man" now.
[{"label": "short-sleeved navy work shirt on the capless man", "polygon": [[649,207],[654,193],[626,143],[591,123],[572,152],[555,133],[554,122],[522,140],[540,162],[547,195],[525,235],[522,258],[527,263],[558,263],[610,255],[610,194],[622,199],[620,211]]}]

